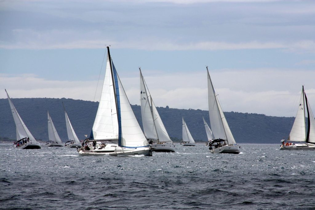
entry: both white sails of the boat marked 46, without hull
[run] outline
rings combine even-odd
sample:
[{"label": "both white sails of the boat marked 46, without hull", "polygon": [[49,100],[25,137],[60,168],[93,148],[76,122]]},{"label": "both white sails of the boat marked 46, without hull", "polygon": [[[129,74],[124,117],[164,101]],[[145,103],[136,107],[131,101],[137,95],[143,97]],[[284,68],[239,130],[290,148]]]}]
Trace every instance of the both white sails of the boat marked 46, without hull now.
[{"label": "both white sails of the boat marked 46, without hull", "polygon": [[158,142],[172,142],[157,112],[151,94],[146,86],[140,70],[140,100],[141,100],[141,117],[144,134],[147,139],[155,139]]}]

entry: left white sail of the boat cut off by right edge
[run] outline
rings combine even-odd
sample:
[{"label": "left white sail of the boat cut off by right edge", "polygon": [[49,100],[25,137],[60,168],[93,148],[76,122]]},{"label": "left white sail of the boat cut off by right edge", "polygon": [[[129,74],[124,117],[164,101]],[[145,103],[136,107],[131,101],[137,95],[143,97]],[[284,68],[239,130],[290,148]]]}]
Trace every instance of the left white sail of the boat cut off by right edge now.
[{"label": "left white sail of the boat cut off by right edge", "polygon": [[289,141],[306,141],[304,107],[304,90],[302,88],[299,108],[297,110],[295,120],[288,138]]}]

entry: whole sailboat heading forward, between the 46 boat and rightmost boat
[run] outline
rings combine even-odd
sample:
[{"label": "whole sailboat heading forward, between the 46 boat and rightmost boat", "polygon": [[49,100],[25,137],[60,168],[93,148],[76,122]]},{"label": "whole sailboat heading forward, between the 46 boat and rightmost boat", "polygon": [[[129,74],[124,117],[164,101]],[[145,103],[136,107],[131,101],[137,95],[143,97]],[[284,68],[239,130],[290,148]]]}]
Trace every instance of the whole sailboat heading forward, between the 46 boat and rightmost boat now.
[{"label": "whole sailboat heading forward, between the 46 boat and rightmost boat", "polygon": [[223,114],[217,94],[212,85],[209,70],[208,73],[208,105],[212,141],[209,143],[211,153],[232,153],[239,154],[239,146],[236,144],[226,118]]}]

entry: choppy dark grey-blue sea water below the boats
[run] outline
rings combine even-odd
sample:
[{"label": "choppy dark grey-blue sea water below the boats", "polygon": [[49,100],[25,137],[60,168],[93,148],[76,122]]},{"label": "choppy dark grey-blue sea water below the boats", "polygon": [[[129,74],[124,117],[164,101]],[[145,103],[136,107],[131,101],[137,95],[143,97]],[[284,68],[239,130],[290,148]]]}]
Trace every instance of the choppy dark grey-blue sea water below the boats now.
[{"label": "choppy dark grey-blue sea water below the boats", "polygon": [[75,148],[0,144],[3,209],[314,209],[315,153],[241,144],[176,145],[152,157],[79,157]]}]

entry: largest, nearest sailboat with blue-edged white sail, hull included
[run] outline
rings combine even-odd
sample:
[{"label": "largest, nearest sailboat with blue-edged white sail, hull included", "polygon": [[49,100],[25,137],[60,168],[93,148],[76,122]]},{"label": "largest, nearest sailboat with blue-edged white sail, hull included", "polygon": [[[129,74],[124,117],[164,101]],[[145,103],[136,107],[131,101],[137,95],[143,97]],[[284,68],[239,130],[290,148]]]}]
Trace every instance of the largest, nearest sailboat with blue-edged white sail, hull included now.
[{"label": "largest, nearest sailboat with blue-edged white sail, hull included", "polygon": [[[115,142],[118,142],[116,144]],[[90,149],[90,143],[94,147]],[[152,149],[131,109],[107,47],[107,63],[101,98],[91,135],[79,155],[152,156]]]}]

